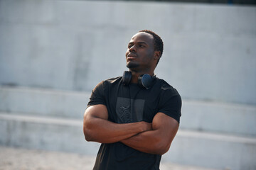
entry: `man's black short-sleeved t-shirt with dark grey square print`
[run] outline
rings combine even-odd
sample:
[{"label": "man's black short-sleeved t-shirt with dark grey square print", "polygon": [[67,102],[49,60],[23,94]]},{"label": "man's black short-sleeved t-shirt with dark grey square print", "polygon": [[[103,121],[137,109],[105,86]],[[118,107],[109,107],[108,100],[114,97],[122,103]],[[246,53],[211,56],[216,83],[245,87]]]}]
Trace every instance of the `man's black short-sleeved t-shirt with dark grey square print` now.
[{"label": "man's black short-sleeved t-shirt with dark grey square print", "polygon": [[[164,113],[179,123],[181,96],[163,79],[154,81],[150,89],[137,84],[124,86],[122,77],[107,79],[92,90],[88,106],[103,104],[113,123],[151,123],[156,113]],[[102,144],[97,154],[95,170],[159,169],[161,155],[147,154],[115,142]]]}]

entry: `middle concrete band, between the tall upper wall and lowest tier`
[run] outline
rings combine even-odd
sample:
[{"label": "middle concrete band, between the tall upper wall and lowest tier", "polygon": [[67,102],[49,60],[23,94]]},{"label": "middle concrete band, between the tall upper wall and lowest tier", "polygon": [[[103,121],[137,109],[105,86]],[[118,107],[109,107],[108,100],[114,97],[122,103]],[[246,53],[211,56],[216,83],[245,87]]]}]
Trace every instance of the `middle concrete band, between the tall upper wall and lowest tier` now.
[{"label": "middle concrete band, between the tall upper wall and lowest tier", "polygon": [[[82,119],[90,91],[0,87],[0,111]],[[181,129],[256,135],[256,106],[183,99]]]}]

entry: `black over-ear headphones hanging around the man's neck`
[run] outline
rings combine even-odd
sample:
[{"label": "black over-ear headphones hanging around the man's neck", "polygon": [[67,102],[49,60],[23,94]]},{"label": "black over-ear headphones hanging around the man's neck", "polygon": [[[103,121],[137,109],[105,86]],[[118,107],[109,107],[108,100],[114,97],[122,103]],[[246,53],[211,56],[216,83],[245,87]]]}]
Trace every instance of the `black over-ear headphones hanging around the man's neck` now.
[{"label": "black over-ear headphones hanging around the man's neck", "polygon": [[[122,81],[124,85],[128,85],[132,79],[132,72],[124,71]],[[143,89],[149,89],[154,80],[156,79],[156,74],[150,76],[149,74],[142,74],[138,77],[138,85]]]}]

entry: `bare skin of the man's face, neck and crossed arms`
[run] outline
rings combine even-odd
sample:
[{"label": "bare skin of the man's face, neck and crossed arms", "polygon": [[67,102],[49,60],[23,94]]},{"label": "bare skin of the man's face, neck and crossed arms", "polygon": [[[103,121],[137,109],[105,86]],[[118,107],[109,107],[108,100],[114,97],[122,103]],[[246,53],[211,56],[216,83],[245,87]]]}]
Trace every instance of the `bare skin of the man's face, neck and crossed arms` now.
[{"label": "bare skin of the man's face, neck and crossed arms", "polygon": [[[132,83],[141,74],[154,74],[160,51],[154,50],[154,38],[149,33],[137,33],[126,52],[127,67]],[[84,115],[83,131],[87,141],[100,143],[122,142],[124,145],[149,154],[164,154],[169,150],[178,131],[178,122],[164,113],[156,113],[152,123],[112,123],[105,105],[90,106]]]}]

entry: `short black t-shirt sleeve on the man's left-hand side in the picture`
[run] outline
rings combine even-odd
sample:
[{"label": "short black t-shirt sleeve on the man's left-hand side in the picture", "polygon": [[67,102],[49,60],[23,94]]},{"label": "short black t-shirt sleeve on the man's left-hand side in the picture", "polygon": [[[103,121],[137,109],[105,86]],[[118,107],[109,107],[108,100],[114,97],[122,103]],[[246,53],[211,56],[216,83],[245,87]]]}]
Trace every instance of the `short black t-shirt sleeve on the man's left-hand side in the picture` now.
[{"label": "short black t-shirt sleeve on the man's left-hand side in the picture", "polygon": [[97,84],[97,86],[95,86],[95,89],[92,90],[90,101],[88,102],[87,107],[97,104],[106,105],[104,94],[104,81],[101,81],[99,84]]}]

